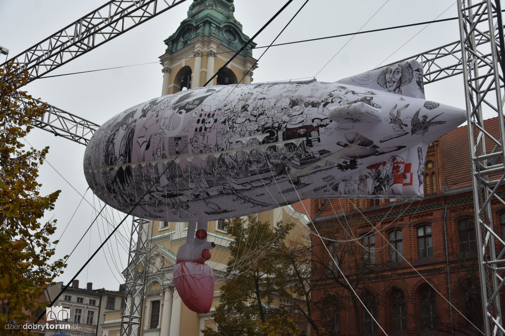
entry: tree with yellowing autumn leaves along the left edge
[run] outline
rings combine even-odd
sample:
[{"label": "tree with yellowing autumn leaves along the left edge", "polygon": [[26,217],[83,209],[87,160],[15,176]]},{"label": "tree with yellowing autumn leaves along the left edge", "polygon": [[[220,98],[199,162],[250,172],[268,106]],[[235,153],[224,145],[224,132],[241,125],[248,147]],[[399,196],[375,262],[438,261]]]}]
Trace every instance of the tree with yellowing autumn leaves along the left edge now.
[{"label": "tree with yellowing autumn leaves along the left edge", "polygon": [[[49,262],[55,249],[49,237],[56,230],[56,219],[40,223],[46,210],[53,210],[60,191],[41,196],[36,179],[48,147],[38,151],[24,149],[21,142],[41,117],[44,106],[37,106],[26,92],[28,72],[8,64],[0,69],[0,325],[33,321],[35,311],[45,308],[36,302],[43,289],[53,282],[64,262]],[[31,334],[27,330],[3,330],[2,334]]]}]

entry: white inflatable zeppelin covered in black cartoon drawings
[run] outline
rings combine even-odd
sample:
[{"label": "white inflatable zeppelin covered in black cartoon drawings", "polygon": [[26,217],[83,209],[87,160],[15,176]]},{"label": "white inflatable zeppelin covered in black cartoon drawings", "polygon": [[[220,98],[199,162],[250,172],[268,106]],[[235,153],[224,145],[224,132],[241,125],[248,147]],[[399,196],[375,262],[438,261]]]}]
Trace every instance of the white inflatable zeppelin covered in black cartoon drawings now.
[{"label": "white inflatable zeppelin covered in black cartoon drawings", "polygon": [[334,83],[212,86],[151,99],[96,131],[84,174],[112,207],[129,212],[138,203],[133,215],[170,221],[309,197],[421,198],[428,144],[466,118],[425,100],[422,79],[410,61]]}]

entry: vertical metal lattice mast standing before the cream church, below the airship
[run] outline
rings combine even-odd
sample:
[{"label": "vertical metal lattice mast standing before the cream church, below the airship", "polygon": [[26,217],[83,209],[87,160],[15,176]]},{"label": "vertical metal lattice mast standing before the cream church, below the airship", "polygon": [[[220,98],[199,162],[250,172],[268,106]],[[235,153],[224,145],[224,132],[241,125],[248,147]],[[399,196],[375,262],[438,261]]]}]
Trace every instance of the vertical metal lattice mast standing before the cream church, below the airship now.
[{"label": "vertical metal lattice mast standing before the cream church, below the airship", "polygon": [[131,224],[130,250],[126,267],[126,284],[120,336],[139,336],[142,330],[142,308],[144,298],[145,273],[149,220],[133,218]]}]

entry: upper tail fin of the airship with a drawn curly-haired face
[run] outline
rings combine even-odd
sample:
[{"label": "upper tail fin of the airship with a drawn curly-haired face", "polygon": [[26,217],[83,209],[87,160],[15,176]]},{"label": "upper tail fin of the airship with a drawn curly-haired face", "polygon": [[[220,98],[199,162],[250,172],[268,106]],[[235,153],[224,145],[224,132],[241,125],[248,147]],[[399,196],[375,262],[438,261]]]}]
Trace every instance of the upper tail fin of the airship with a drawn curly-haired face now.
[{"label": "upper tail fin of the airship with a drawn curly-haired face", "polygon": [[425,99],[423,65],[415,60],[374,69],[338,80],[335,83],[367,87],[373,90]]}]

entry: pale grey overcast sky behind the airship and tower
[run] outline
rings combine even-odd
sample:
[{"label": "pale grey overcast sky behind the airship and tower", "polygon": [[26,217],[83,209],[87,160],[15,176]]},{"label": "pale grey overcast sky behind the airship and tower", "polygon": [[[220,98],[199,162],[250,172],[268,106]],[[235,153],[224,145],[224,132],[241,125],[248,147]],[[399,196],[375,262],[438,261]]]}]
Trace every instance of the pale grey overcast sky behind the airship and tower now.
[{"label": "pale grey overcast sky behind the airship and tower", "polygon": [[[294,0],[257,37],[255,42],[258,46],[270,44],[304,2]],[[0,0],[0,45],[10,49],[9,56],[14,57],[104,3],[105,0]],[[130,106],[160,96],[162,73],[157,61],[165,52],[163,40],[175,32],[186,18],[190,3],[191,0],[188,0],[48,75],[150,64],[38,79],[24,89],[34,97],[98,124]],[[244,33],[252,36],[284,3],[278,0],[235,0],[235,17],[242,23]],[[365,23],[362,30],[456,16],[456,2],[453,0],[310,0],[277,43],[357,32]],[[260,60],[254,81],[312,78],[319,72],[318,80],[332,82],[459,40],[457,20],[432,24],[421,31],[423,27],[357,35],[347,44],[349,37],[272,47]],[[263,50],[254,50],[253,56],[258,58]],[[336,57],[324,67],[335,54]],[[5,55],[1,55],[0,63],[4,61]],[[462,77],[426,86],[426,97],[465,108]],[[42,192],[62,190],[56,209],[47,217],[58,219],[55,237],[63,234],[57,246],[57,256],[62,257],[70,253],[96,216],[96,211],[86,200],[100,208],[89,190],[86,200],[79,205],[81,195],[87,189],[82,171],[85,147],[39,129],[31,132],[28,141],[37,149],[51,147],[40,170],[39,181],[43,184]],[[119,222],[121,218],[121,213],[114,211],[111,222]],[[121,228],[125,237],[129,235],[130,226],[128,221]],[[93,225],[91,238],[88,235],[83,239],[69,259],[65,273],[57,280],[68,282],[110,230],[102,220]],[[127,264],[125,248],[113,239],[104,252],[97,254],[88,269],[77,277],[81,287],[85,282],[92,282],[94,288],[117,289],[124,281],[119,271]]]}]

